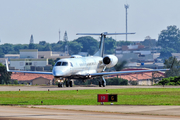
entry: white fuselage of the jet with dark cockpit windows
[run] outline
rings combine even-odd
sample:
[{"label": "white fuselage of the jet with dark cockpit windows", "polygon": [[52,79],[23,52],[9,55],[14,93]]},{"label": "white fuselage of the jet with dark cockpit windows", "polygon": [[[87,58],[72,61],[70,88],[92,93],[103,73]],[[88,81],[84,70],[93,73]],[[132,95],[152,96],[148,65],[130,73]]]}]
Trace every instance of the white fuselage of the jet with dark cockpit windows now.
[{"label": "white fuselage of the jet with dark cockpit windows", "polygon": [[105,66],[102,59],[98,56],[61,59],[56,62],[52,72],[55,77],[88,78],[89,74],[102,72]]}]

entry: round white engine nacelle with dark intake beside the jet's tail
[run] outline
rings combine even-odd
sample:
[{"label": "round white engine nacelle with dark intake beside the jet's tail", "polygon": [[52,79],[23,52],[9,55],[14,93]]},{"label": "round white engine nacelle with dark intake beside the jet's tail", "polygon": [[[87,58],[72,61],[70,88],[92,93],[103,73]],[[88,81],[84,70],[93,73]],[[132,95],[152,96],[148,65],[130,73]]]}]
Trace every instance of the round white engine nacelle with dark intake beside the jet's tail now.
[{"label": "round white engine nacelle with dark intake beside the jet's tail", "polygon": [[113,67],[117,64],[118,58],[115,55],[106,55],[103,57],[103,63],[107,68]]}]

